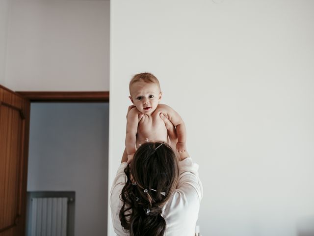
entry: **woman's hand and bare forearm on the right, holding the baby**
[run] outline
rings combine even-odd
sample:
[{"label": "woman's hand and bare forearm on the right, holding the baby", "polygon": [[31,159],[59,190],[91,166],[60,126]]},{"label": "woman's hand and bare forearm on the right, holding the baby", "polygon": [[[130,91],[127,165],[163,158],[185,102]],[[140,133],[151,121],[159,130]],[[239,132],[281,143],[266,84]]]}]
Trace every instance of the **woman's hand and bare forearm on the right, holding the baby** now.
[{"label": "woman's hand and bare forearm on the right, holding the baby", "polygon": [[[186,157],[189,157],[189,154],[186,151],[185,144],[181,145],[180,143],[178,143],[178,135],[177,135],[176,127],[173,125],[173,123],[171,123],[171,121],[168,119],[168,117],[165,114],[160,113],[160,118],[163,120],[163,122],[165,122],[165,126],[168,131],[168,136],[170,139],[171,147],[174,150],[176,150],[177,153],[179,154],[179,161],[185,159]],[[176,147],[174,148],[175,144],[176,144]],[[179,147],[180,147],[179,149],[180,151],[178,150]]]}]

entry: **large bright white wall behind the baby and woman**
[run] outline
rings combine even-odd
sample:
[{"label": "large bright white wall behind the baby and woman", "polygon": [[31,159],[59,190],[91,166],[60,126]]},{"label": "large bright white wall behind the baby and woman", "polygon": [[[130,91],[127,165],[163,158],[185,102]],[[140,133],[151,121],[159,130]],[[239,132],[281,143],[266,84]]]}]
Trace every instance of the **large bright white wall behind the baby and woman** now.
[{"label": "large bright white wall behind the baby and woman", "polygon": [[201,233],[304,235],[314,226],[313,12],[309,0],[112,1],[109,184],[129,80],[151,71],[200,164]]}]

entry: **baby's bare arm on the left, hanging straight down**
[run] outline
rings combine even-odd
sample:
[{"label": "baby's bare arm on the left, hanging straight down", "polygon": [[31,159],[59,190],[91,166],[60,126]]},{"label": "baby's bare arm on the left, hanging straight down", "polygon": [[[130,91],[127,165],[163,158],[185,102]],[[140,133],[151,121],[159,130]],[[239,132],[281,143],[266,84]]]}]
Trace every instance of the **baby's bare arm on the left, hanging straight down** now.
[{"label": "baby's bare arm on the left, hanging straight down", "polygon": [[127,133],[126,133],[126,150],[128,154],[128,162],[131,161],[135,153],[136,147],[136,133],[138,126],[138,111],[136,108],[132,108],[127,116]]}]

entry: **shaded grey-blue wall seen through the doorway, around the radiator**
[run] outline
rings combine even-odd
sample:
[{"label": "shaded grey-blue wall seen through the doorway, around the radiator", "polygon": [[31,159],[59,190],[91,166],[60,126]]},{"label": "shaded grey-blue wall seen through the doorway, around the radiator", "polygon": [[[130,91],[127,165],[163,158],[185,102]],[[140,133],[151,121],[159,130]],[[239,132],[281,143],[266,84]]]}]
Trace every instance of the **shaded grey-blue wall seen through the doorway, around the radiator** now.
[{"label": "shaded grey-blue wall seen through the doorway, around the radiator", "polygon": [[108,103],[32,103],[27,191],[75,191],[75,236],[107,231]]}]

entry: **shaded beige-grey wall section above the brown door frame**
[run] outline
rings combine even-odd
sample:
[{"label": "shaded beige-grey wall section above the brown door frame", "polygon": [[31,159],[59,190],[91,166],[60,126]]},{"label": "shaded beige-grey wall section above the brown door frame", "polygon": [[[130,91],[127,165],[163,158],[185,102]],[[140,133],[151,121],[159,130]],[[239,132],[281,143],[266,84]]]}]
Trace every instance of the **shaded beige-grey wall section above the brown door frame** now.
[{"label": "shaded beige-grey wall section above the brown door frame", "polygon": [[106,0],[11,0],[7,87],[109,90],[109,4]]}]

